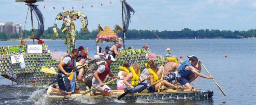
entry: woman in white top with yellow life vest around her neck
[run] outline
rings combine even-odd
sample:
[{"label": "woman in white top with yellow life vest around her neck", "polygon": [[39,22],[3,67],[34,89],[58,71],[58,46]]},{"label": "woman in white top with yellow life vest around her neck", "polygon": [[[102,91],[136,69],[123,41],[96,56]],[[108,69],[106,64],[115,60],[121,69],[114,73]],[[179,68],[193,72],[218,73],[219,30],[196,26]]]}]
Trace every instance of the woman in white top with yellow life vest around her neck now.
[{"label": "woman in white top with yellow life vest around her neck", "polygon": [[123,63],[122,67],[119,67],[120,71],[118,72],[117,76],[120,77],[120,80],[116,80],[116,90],[123,90],[125,84],[123,84],[123,79],[130,73],[129,64],[127,62]]}]

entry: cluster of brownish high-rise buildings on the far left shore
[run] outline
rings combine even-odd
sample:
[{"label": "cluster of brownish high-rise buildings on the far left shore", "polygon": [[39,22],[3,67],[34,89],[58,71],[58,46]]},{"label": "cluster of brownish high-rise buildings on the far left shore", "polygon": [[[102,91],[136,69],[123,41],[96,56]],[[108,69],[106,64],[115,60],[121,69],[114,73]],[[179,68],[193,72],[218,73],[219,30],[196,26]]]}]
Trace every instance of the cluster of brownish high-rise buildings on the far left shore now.
[{"label": "cluster of brownish high-rise buildings on the far left shore", "polygon": [[14,24],[13,22],[0,23],[0,32],[6,31],[6,34],[21,34],[22,25]]}]

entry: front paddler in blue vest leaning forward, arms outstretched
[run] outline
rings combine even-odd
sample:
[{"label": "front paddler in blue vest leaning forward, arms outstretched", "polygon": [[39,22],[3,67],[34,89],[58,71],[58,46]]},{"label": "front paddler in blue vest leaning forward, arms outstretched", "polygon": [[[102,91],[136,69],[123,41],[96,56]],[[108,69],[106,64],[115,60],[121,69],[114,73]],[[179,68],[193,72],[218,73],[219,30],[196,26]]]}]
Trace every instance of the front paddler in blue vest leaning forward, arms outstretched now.
[{"label": "front paddler in blue vest leaning forward, arms outstretched", "polygon": [[197,67],[197,63],[198,63],[197,57],[192,56],[192,58],[189,60],[191,60],[191,62],[189,62],[187,60],[187,61],[183,62],[183,64],[181,64],[180,67],[178,68],[177,81],[179,84],[185,85],[185,87],[187,89],[192,91],[193,88],[190,83],[193,80],[195,80],[195,78],[197,78],[197,76],[195,76],[195,75],[198,75],[203,78],[208,78],[208,79],[212,79],[213,76],[208,77],[199,72],[198,67]]}]

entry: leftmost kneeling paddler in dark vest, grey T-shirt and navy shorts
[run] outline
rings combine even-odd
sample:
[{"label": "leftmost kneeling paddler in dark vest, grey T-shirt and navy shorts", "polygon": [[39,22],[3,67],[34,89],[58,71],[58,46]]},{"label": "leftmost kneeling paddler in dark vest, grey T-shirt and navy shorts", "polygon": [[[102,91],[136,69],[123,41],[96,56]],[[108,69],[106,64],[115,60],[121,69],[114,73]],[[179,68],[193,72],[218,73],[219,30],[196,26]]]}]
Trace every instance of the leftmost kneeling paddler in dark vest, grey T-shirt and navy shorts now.
[{"label": "leftmost kneeling paddler in dark vest, grey T-shirt and navy shorts", "polygon": [[[69,76],[70,72],[72,72],[72,70],[76,70],[76,66],[75,66],[75,59],[78,56],[78,49],[73,49],[72,53],[70,55],[67,55],[65,58],[63,58],[63,60],[59,63],[58,68],[58,75],[57,75],[57,79],[64,77],[64,76]],[[58,93],[62,93],[62,94],[66,94],[66,95],[70,95],[72,92],[71,89],[71,85],[70,85],[70,81],[68,77],[64,77],[61,80],[58,81],[58,89],[52,88],[52,86],[48,87],[47,90],[47,95],[49,96],[50,93],[53,92],[58,92]]]}]

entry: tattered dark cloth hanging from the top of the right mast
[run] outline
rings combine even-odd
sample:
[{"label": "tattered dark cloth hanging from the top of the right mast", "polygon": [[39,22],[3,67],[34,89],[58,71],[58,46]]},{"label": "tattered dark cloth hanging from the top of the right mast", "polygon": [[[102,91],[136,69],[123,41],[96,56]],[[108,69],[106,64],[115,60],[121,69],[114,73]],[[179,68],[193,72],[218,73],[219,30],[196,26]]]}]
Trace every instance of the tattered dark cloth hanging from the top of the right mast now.
[{"label": "tattered dark cloth hanging from the top of the right mast", "polygon": [[123,32],[125,33],[129,27],[129,22],[130,22],[130,18],[131,18],[131,13],[130,12],[135,12],[134,9],[126,2],[123,1],[123,12],[125,13],[125,26],[124,26],[124,30]]}]

